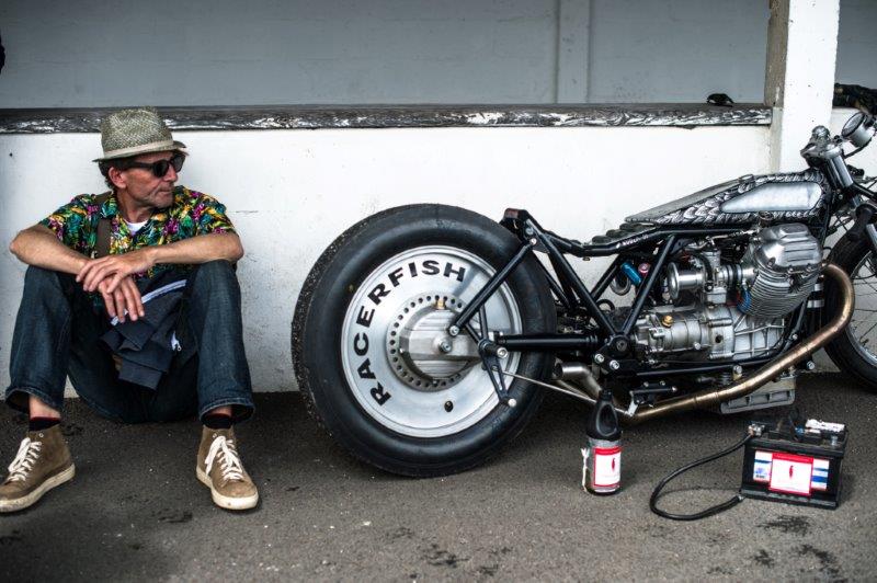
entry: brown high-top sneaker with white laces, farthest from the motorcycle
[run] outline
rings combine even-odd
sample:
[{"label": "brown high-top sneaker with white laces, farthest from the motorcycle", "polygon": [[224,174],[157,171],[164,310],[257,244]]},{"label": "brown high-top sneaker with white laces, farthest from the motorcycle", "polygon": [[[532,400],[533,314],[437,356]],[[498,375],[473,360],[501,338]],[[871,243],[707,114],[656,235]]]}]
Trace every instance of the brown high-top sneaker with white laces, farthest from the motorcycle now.
[{"label": "brown high-top sneaker with white laces, farthest from the motorcycle", "polygon": [[15,512],[36,503],[53,488],[70,481],[76,466],[61,426],[27,432],[0,485],[0,512]]}]

